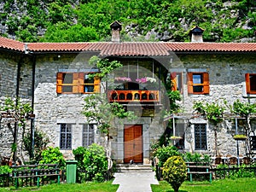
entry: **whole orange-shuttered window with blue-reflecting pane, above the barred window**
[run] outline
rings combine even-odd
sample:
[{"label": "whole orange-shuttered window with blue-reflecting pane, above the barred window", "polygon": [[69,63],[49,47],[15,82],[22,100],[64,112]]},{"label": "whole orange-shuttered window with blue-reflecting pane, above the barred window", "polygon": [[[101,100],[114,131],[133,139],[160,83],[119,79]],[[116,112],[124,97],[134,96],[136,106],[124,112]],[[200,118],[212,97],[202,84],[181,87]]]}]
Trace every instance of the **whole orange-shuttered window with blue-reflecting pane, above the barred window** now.
[{"label": "whole orange-shuttered window with blue-reflecting pane, above the barred window", "polygon": [[188,73],[188,93],[209,94],[208,73]]}]

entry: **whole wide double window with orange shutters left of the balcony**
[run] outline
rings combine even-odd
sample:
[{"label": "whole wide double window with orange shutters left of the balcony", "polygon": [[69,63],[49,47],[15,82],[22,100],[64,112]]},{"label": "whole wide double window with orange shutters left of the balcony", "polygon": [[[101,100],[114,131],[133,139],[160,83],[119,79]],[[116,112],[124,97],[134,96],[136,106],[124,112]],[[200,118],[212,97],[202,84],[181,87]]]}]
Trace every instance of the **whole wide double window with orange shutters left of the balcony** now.
[{"label": "whole wide double window with orange shutters left of the balcony", "polygon": [[100,92],[99,78],[89,78],[90,73],[57,73],[57,93]]}]

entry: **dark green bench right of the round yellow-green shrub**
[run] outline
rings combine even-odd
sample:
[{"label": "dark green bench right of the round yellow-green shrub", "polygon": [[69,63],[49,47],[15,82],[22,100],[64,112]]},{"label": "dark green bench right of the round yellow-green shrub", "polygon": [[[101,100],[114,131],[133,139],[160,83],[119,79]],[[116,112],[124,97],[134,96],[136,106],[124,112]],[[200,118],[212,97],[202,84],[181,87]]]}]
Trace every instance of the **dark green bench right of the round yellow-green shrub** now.
[{"label": "dark green bench right of the round yellow-green shrub", "polygon": [[[192,169],[192,172],[190,171]],[[209,170],[211,169],[210,166],[197,166],[197,165],[193,165],[193,166],[190,166],[188,165],[187,166],[187,173],[189,175],[189,180],[190,182],[193,181],[193,178],[192,178],[192,175],[193,174],[201,174],[201,175],[209,175],[209,182],[212,183],[212,172],[209,172]]]}]

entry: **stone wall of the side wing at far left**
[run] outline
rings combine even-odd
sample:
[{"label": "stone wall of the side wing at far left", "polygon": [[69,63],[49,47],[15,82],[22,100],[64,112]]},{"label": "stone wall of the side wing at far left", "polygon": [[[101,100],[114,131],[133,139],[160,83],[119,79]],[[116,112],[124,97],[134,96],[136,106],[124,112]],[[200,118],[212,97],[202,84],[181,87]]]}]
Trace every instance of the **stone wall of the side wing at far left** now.
[{"label": "stone wall of the side wing at far left", "polygon": [[[0,51],[0,105],[4,105],[7,97],[15,99],[17,94],[17,69],[20,63],[20,86],[19,97],[21,102],[31,103],[32,96],[32,62],[29,57],[15,54],[14,52]],[[0,157],[11,156],[11,145],[14,137],[7,127],[7,123],[11,122],[12,130],[15,123],[12,119],[1,119],[0,128]],[[26,122],[26,132],[30,130],[30,121]],[[18,146],[17,156],[19,160],[27,160],[27,153],[21,147],[22,130],[18,129]]]}]

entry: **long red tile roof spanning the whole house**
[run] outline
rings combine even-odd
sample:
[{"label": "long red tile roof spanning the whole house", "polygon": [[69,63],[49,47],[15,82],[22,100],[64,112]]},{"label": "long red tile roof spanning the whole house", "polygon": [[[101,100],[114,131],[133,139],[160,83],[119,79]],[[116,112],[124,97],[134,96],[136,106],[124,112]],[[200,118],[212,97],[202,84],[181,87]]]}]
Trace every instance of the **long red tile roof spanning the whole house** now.
[{"label": "long red tile roof spanning the whole house", "polygon": [[139,56],[170,55],[171,52],[250,52],[256,53],[256,43],[165,43],[165,42],[98,42],[98,43],[21,43],[0,37],[0,48],[17,51],[79,52],[97,51],[99,55]]}]

